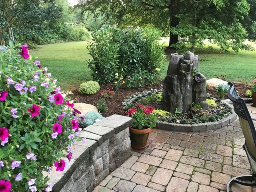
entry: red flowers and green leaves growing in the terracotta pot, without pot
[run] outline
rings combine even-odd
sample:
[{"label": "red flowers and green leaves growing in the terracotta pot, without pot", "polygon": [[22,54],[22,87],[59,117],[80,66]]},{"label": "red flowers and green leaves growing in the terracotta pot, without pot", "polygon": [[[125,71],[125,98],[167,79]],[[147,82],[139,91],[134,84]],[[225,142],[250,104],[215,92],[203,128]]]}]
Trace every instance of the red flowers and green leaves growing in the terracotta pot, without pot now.
[{"label": "red flowers and green leaves growing in the terracotta pot, without pot", "polygon": [[132,128],[147,129],[156,127],[157,117],[152,113],[154,107],[137,104],[134,108],[129,108],[126,115],[132,117]]}]

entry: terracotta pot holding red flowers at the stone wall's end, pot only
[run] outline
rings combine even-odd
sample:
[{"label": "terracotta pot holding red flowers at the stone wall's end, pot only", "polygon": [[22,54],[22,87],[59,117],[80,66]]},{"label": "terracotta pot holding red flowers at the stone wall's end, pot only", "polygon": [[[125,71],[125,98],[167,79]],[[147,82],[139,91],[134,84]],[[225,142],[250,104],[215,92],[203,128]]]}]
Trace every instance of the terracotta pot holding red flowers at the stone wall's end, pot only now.
[{"label": "terracotta pot holding red flowers at the stone wall's end, pot only", "polygon": [[134,129],[130,128],[131,145],[134,149],[144,149],[147,146],[148,136],[151,128]]}]

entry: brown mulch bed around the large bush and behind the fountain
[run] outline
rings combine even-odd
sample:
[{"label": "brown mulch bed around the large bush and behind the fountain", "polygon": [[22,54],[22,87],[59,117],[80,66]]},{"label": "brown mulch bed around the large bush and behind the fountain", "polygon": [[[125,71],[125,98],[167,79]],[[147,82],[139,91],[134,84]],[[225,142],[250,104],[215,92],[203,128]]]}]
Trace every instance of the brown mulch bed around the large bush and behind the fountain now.
[{"label": "brown mulch bed around the large bush and behind the fountain", "polygon": [[[245,95],[245,92],[246,92],[246,90],[250,89],[250,85],[245,84],[245,83],[239,83],[239,82],[234,82],[234,85],[236,87],[236,90],[239,92],[240,97],[246,98],[247,96]],[[82,95],[78,92],[78,89],[72,90],[72,92],[74,93],[73,98],[74,98],[74,100],[76,100],[76,102],[83,102],[83,103],[92,104],[94,106],[97,106],[97,101],[101,97],[100,92],[107,90],[107,88],[112,88],[112,87],[113,87],[112,84],[102,85],[102,86],[100,86],[100,91],[94,95]],[[108,110],[106,112],[102,113],[102,115],[104,117],[108,117],[113,114],[124,115],[122,102],[128,96],[130,96],[136,92],[143,92],[145,90],[150,90],[151,88],[160,90],[162,88],[162,82],[159,83],[158,85],[146,86],[146,87],[137,88],[137,89],[120,88],[118,91],[115,91],[114,98],[106,99],[106,103],[108,105]],[[208,90],[208,92],[211,94],[212,97],[216,98],[216,93],[214,91]],[[225,97],[225,98],[227,98],[227,97]]]}]

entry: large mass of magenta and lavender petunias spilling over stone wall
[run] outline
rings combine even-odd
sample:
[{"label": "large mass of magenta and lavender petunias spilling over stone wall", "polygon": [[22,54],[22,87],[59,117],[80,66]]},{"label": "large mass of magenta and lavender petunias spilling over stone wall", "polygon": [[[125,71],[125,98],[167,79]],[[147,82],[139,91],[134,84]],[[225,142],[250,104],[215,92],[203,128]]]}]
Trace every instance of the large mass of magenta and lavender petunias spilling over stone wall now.
[{"label": "large mass of magenta and lavender petunias spilling over stone wall", "polygon": [[73,107],[27,46],[0,46],[0,191],[52,191],[42,172],[63,171],[80,140]]}]

